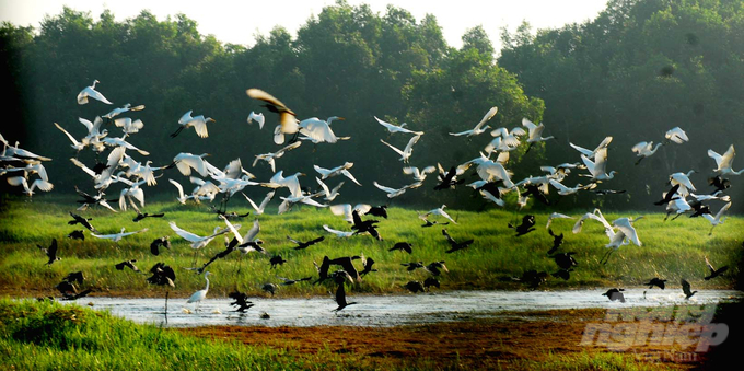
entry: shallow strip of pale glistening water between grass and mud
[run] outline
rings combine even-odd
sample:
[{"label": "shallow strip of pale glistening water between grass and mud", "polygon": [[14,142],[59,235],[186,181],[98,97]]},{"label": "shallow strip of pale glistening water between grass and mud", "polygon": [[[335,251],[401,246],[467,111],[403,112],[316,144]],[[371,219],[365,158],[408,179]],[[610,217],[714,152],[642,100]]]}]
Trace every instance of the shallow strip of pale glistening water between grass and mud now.
[{"label": "shallow strip of pale glistening water between grass and mud", "polygon": [[[643,292],[646,291],[646,295]],[[246,313],[233,312],[230,299],[206,299],[195,312],[186,299],[168,300],[167,326],[196,327],[213,325],[244,326],[398,326],[446,321],[497,317],[505,312],[588,308],[631,308],[674,304],[713,304],[741,301],[744,292],[705,290],[685,300],[679,290],[628,289],[626,302],[613,302],[602,295],[605,290],[570,291],[442,291],[404,295],[349,295],[357,304],[334,313],[332,297],[311,299],[249,299],[255,306]],[[63,303],[69,303],[65,302]],[[138,323],[165,325],[165,299],[84,298],[80,305],[107,310]],[[266,312],[270,317],[260,318]]]}]

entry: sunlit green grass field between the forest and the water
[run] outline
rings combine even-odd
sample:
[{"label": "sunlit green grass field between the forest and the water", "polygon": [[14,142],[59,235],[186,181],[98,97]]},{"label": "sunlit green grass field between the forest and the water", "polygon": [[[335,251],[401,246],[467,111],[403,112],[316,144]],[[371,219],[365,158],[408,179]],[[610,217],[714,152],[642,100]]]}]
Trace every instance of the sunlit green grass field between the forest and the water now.
[{"label": "sunlit green grass field between the forest and the water", "polygon": [[[245,208],[241,206],[241,210]],[[449,209],[447,209],[449,210]],[[121,227],[127,231],[148,228],[148,232],[125,237],[119,243],[100,240],[85,230],[85,240],[66,237],[72,230],[83,229],[68,225],[71,220],[68,211],[93,218],[91,221],[101,233],[116,233]],[[179,205],[176,202],[149,204],[147,212],[164,212],[162,219],[149,218],[139,223],[132,222],[133,211],[114,213],[103,208],[75,211],[74,202],[66,199],[7,198],[0,213],[0,287],[10,297],[59,295],[54,287],[71,271],[82,270],[86,281],[82,288],[92,288],[92,295],[161,297],[164,288],[146,282],[147,273],[158,262],[176,269],[176,289],[172,297],[188,297],[202,289],[204,277],[184,268],[191,267],[195,251],[176,235],[168,221],[200,235],[207,235],[216,227],[224,227],[207,205]],[[545,229],[547,213],[536,213],[536,230],[523,236],[515,236],[509,222],[519,222],[526,211],[515,213],[502,209],[488,209],[483,212],[449,210],[456,216],[457,224],[445,225],[455,240],[475,239],[470,247],[452,254],[445,253],[449,244],[442,235],[442,228],[434,225],[421,228],[417,210],[403,208],[388,209],[388,219],[381,220],[379,231],[383,241],[370,235],[356,235],[339,239],[325,232],[323,224],[338,230],[350,230],[350,224],[327,209],[303,207],[283,215],[276,210],[258,217],[261,232],[259,237],[270,255],[281,254],[288,262],[271,268],[269,258],[258,253],[241,255],[233,252],[224,259],[214,262],[208,270],[211,286],[209,297],[224,298],[234,289],[251,295],[261,295],[260,286],[266,282],[281,283],[277,278],[317,277],[313,262],[318,264],[327,255],[330,258],[364,254],[375,260],[377,271],[367,275],[363,281],[351,290],[354,293],[403,292],[400,286],[409,280],[423,281],[430,276],[426,270],[409,273],[402,263],[423,262],[429,264],[444,260],[449,273],[440,276],[441,289],[527,289],[519,282],[504,281],[504,277],[520,277],[524,271],[535,269],[549,274],[558,270],[555,262],[547,256],[553,237]],[[420,209],[418,211],[426,211]],[[568,212],[573,217],[591,210]],[[607,210],[605,217],[612,221],[619,217],[637,217],[640,212],[615,213]],[[724,224],[717,227],[712,235],[710,223],[702,218],[678,218],[663,221],[663,213],[644,213],[646,218],[636,222],[642,246],[625,245],[614,253],[608,264],[600,259],[606,252],[607,237],[603,227],[595,221],[584,223],[579,234],[571,233],[577,219],[555,219],[551,229],[565,233],[565,242],[559,252],[576,252],[579,265],[569,280],[549,278],[543,289],[568,289],[581,287],[638,287],[652,278],[669,280],[671,287],[678,287],[685,278],[695,288],[735,288],[742,262],[742,240],[744,219],[732,216]],[[248,216],[233,223],[243,225],[241,233],[247,232],[254,217]],[[444,221],[444,220],[442,220]],[[160,256],[150,253],[150,243],[160,236],[170,235],[172,250],[163,250]],[[303,251],[292,248],[287,240],[310,240],[321,235],[325,241]],[[59,243],[58,255],[62,258],[50,266],[46,265],[45,254],[36,245],[48,246],[53,239]],[[396,242],[407,241],[414,245],[412,254],[388,252]],[[223,237],[219,236],[207,247],[196,251],[197,266],[206,263],[216,253],[224,250]],[[702,278],[708,274],[705,256],[717,266],[730,267],[729,271],[714,280]],[[137,259],[137,265],[146,274],[129,269],[116,270],[116,263]],[[359,262],[359,260],[357,260]],[[361,270],[361,264],[357,264]],[[332,271],[334,268],[332,268]],[[277,295],[326,294],[328,288],[310,282],[281,286]]]}]

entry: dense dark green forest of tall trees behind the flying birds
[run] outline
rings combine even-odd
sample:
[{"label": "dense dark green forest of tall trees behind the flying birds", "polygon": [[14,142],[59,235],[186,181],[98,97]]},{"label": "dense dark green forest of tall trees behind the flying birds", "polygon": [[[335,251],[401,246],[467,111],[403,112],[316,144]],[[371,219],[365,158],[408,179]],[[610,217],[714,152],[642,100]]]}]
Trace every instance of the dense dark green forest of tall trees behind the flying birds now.
[{"label": "dense dark green forest of tall trees behind the flying birds", "polygon": [[[353,162],[351,173],[362,187],[347,182],[341,202],[384,202],[374,181],[392,187],[411,181],[400,172],[398,155],[380,139],[403,148],[409,136],[388,136],[374,116],[426,132],[415,146],[411,165],[439,162],[449,169],[477,158],[492,139],[488,134],[465,138],[449,132],[473,128],[497,106],[491,128],[511,129],[526,117],[544,123],[544,136],[556,138],[527,153],[526,144],[512,152],[507,167],[515,181],[542,175],[540,165],[581,161],[569,142],[593,149],[613,136],[608,170],[619,174],[601,187],[627,192],[568,196],[557,207],[619,209],[653,209],[651,202],[675,172],[696,170],[693,181],[700,193],[709,193],[707,178],[716,163],[708,149],[723,153],[730,144],[742,144],[744,3],[736,0],[611,0],[598,18],[583,24],[533,31],[525,23],[515,33],[504,31],[501,50],[481,26],[470,28],[462,36],[463,46],[454,48],[431,15],[416,20],[395,7],[379,14],[344,1],[311,16],[297,35],[277,27],[249,47],[201,35],[197,25],[181,14],[156,20],[146,10],[115,20],[109,12],[96,19],[73,9],[45,19],[38,28],[3,23],[0,81],[10,97],[0,132],[54,159],[47,165],[54,193],[73,194],[74,185],[92,190],[90,177],[68,161],[74,150],[53,123],[83,137],[79,117],[93,120],[126,103],[143,104],[144,111],[128,115],[144,123],[128,140],[151,152],[147,158],[133,153],[137,160],[165,165],[179,152],[210,153],[209,161],[223,167],[241,158],[259,181],[267,181],[272,172],[266,163],[251,167],[256,154],[279,148],[271,140],[276,115],[245,93],[259,88],[299,119],[345,117],[333,128],[351,137],[335,144],[305,142],[278,160],[278,170],[304,172],[303,185],[315,187],[313,164],[330,169]],[[77,94],[93,80],[101,81],[96,90],[114,105],[77,104]],[[198,138],[189,129],[170,138],[178,118],[191,109],[216,119],[209,137]],[[246,123],[252,111],[266,115],[263,130]],[[683,128],[690,141],[663,146],[635,165],[630,148],[639,141],[660,142],[673,127]],[[80,153],[89,165],[94,158],[88,149]],[[464,176],[475,181],[469,173]],[[163,179],[168,177],[188,184],[175,170]],[[571,175],[566,184],[582,181]],[[735,175],[732,182],[733,194],[741,186]],[[484,204],[470,188],[437,192],[433,185],[427,181],[395,202],[453,208]],[[148,195],[165,192],[175,195],[167,182],[148,188]],[[246,193],[259,195],[265,188]],[[732,210],[741,211],[735,204]],[[542,207],[534,200],[530,205]]]}]

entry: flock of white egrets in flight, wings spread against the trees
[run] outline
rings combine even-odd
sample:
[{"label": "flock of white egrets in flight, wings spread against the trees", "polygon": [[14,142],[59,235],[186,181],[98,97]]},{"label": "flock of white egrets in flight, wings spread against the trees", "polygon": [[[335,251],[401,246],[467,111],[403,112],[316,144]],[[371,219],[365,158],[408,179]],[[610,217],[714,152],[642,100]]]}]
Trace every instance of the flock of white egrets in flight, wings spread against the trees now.
[{"label": "flock of white egrets in flight, wings spread against the trees", "polygon": [[[88,86],[80,92],[77,98],[79,104],[86,104],[91,98],[107,105],[113,104],[95,89],[96,83],[98,83],[97,80],[94,81],[91,86]],[[299,148],[303,141],[311,141],[314,144],[333,144],[339,140],[349,140],[350,137],[336,136],[332,128],[332,124],[336,120],[344,120],[342,117],[332,116],[326,120],[311,117],[300,120],[292,109],[288,108],[283,103],[265,91],[249,89],[247,90],[247,95],[251,98],[261,102],[263,107],[269,112],[269,117],[274,117],[271,115],[277,115],[278,117],[278,124],[274,129],[274,142],[282,147],[276,152],[255,154],[255,160],[253,161],[253,166],[256,166],[259,161],[265,161],[270,166],[271,172],[275,173],[274,176],[264,182],[257,181],[256,176],[246,171],[240,159],[231,161],[222,169],[209,163],[206,159],[208,155],[207,153],[177,153],[173,158],[171,164],[162,166],[153,166],[151,161],[142,162],[138,160],[138,156],[147,156],[149,152],[137,148],[129,140],[133,139],[140,130],[143,130],[144,125],[140,119],[123,117],[121,115],[132,114],[144,109],[143,105],[132,106],[126,104],[105,115],[95,117],[93,121],[80,118],[80,123],[86,129],[86,135],[82,138],[72,136],[66,128],[55,123],[54,125],[70,140],[70,146],[75,153],[80,153],[80,151],[90,148],[97,153],[97,155],[105,155],[106,159],[104,163],[97,163],[94,166],[89,166],[79,161],[77,155],[70,159],[70,162],[74,166],[81,169],[90,176],[92,186],[95,189],[94,195],[89,195],[78,189],[78,193],[84,198],[84,201],[81,201],[82,206],[79,210],[84,210],[90,205],[97,204],[111,211],[117,212],[116,208],[107,202],[104,195],[112,185],[121,184],[124,187],[119,192],[118,209],[125,211],[128,207],[131,207],[137,210],[139,215],[140,208],[144,207],[144,190],[147,187],[155,185],[166,169],[176,167],[181,174],[188,177],[193,185],[191,190],[186,192],[184,186],[177,181],[172,178],[168,179],[177,190],[176,199],[181,204],[185,204],[189,200],[196,202],[211,202],[219,195],[222,195],[222,207],[226,207],[225,202],[235,194],[242,193],[245,187],[260,186],[270,189],[259,205],[243,194],[254,208],[255,216],[264,213],[267,205],[272,200],[277,192],[282,188],[287,188],[288,194],[279,197],[281,199],[280,206],[278,207],[279,213],[291,210],[297,204],[305,204],[317,208],[328,207],[333,213],[342,216],[344,219],[349,222],[354,222],[354,210],[357,211],[357,216],[362,216],[369,211],[371,206],[367,204],[359,204],[356,206],[350,204],[327,204],[333,202],[339,196],[339,189],[345,184],[345,182],[339,182],[332,188],[332,186],[326,184],[330,178],[344,177],[358,186],[361,185],[351,173],[353,163],[345,162],[334,169],[324,169],[315,165],[314,170],[317,173],[315,183],[317,183],[318,189],[321,189],[315,193],[304,192],[303,189],[306,188],[303,188],[300,185],[300,177],[305,175],[304,173],[297,172],[291,175],[286,175],[282,170],[277,171],[279,167],[278,161],[290,151]],[[480,121],[472,129],[460,132],[450,132],[450,135],[453,137],[469,138],[485,135],[488,132],[488,129],[490,129],[488,123],[496,116],[497,112],[497,107],[490,107]],[[454,165],[450,170],[444,169],[439,163],[435,166],[429,165],[419,169],[408,164],[411,161],[415,146],[421,140],[425,132],[408,129],[406,124],[394,125],[377,117],[374,117],[374,119],[384,129],[388,130],[391,136],[411,136],[404,149],[398,149],[381,139],[383,144],[399,155],[398,160],[404,164],[403,172],[410,175],[412,179],[410,184],[402,187],[391,187],[373,182],[374,186],[384,192],[388,198],[400,196],[406,192],[420,187],[427,176],[433,173],[438,173],[439,184],[435,189],[454,188],[455,185],[463,183],[463,174],[468,169],[474,169],[478,174],[479,179],[467,184],[467,186],[479,190],[485,200],[499,207],[504,206],[503,195],[511,192],[518,193],[518,205],[521,208],[527,202],[528,195],[523,190],[527,187],[537,189],[542,195],[547,195],[549,189],[554,188],[557,194],[566,196],[579,192],[594,190],[598,183],[611,182],[617,175],[616,171],[608,169],[607,150],[612,144],[613,138],[606,137],[603,138],[594,149],[586,149],[570,143],[570,146],[579,152],[577,162],[574,163],[542,166],[540,171],[543,171],[544,174],[540,176],[512,179],[513,173],[509,170],[509,153],[525,143],[532,148],[535,143],[554,138],[543,137],[545,126],[543,124],[536,125],[527,118],[522,120],[521,126],[516,126],[512,129],[504,127],[492,129],[490,136],[493,139],[479,151],[478,156],[470,161]],[[198,138],[207,138],[209,136],[209,126],[214,121],[213,118],[205,117],[204,115],[193,116],[193,112],[188,111],[177,120],[177,129],[171,136],[176,137],[184,130],[187,131],[185,135],[188,135],[188,131],[193,128]],[[257,123],[259,130],[264,128],[266,121],[267,118],[263,113],[251,112],[247,117],[247,123]],[[119,137],[114,137],[113,131],[116,129],[112,128],[112,131],[108,130],[112,125],[121,130]],[[174,128],[176,128],[175,125]],[[289,143],[286,143],[286,136],[293,137]],[[0,156],[0,162],[2,164],[0,175],[8,175],[7,182],[11,186],[22,187],[23,193],[30,197],[34,195],[35,190],[50,192],[54,189],[54,185],[50,183],[44,167],[44,162],[49,161],[50,159],[21,149],[19,142],[11,146],[2,138],[2,136],[0,136],[0,140],[2,140],[3,143]],[[641,160],[653,155],[661,146],[670,143],[684,146],[688,140],[689,138],[685,131],[676,127],[666,131],[665,138],[655,146],[653,141],[641,141],[633,146],[631,150],[638,155],[638,164]],[[711,177],[711,182],[713,182],[713,179],[718,182],[716,184],[728,184],[728,179],[724,177],[739,175],[744,172],[744,170],[734,171],[732,167],[735,156],[733,144],[731,144],[723,154],[709,150],[708,155],[716,163],[716,167],[712,170],[713,177]],[[584,184],[578,183],[573,186],[566,184],[569,174],[572,172],[581,172],[579,175],[585,177]],[[675,216],[700,212],[704,218],[710,221],[712,227],[723,223],[725,220],[724,213],[731,207],[730,197],[723,195],[725,186],[717,186],[717,192],[713,194],[700,195],[689,179],[690,174],[691,171],[677,172],[669,176],[670,186],[672,186],[672,188],[670,192],[662,195],[662,201],[666,204],[666,211],[669,213],[674,213]],[[596,192],[598,193],[600,190]],[[533,194],[533,196],[539,195]],[[702,205],[702,202],[708,202],[710,200],[722,200],[725,204],[721,207],[720,211],[712,213],[707,206]],[[456,221],[444,211],[444,207],[445,206],[442,205],[426,213],[420,213],[420,218],[426,222],[431,223],[428,219],[438,216],[449,219],[452,223],[456,223]],[[550,216],[546,228],[549,227],[550,220],[554,218],[572,217],[554,213]],[[579,233],[583,222],[588,219],[596,220],[604,225],[605,233],[609,240],[605,246],[611,248],[609,253],[619,248],[621,245],[629,243],[639,246],[641,245],[639,233],[633,227],[633,222],[640,218],[619,218],[611,222],[602,216],[602,212],[598,209],[596,209],[579,218],[573,228],[573,233]],[[170,225],[176,234],[187,240],[195,250],[206,246],[216,236],[230,232],[233,232],[234,235],[241,240],[241,243],[243,243],[243,237],[236,232],[240,225],[230,224],[226,218],[224,220],[228,225],[216,228],[214,232],[208,236],[199,236],[195,233],[185,231],[178,228],[175,222],[171,222]],[[255,223],[257,225],[257,221]],[[524,228],[528,229],[530,227],[531,225],[526,225]],[[351,236],[358,232],[354,232],[353,230],[335,231],[327,225],[324,225],[324,228],[329,233],[335,233],[339,236]],[[100,239],[119,241],[126,235],[144,231],[147,231],[147,229],[137,232],[125,232],[123,229],[120,233],[93,235]],[[256,233],[257,231],[248,239],[256,240]],[[205,276],[205,278],[207,277]],[[206,295],[206,289],[202,291]]]}]

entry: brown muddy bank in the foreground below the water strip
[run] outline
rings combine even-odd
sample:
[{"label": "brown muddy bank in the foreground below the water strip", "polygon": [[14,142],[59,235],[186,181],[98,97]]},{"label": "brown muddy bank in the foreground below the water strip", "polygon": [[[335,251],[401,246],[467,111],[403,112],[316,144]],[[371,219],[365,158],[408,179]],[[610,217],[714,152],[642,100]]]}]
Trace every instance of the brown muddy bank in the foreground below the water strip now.
[{"label": "brown muddy bank in the foreground below the water strip", "polygon": [[[301,356],[344,355],[360,368],[545,369],[555,364],[581,369],[581,364],[571,366],[573,360],[613,353],[629,357],[630,363],[641,369],[720,369],[734,360],[736,348],[744,340],[742,310],[742,303],[721,304],[714,309],[714,315],[708,322],[725,324],[729,332],[723,341],[706,351],[698,351],[698,343],[695,343],[702,333],[679,326],[673,317],[628,322],[637,324],[632,327],[635,334],[646,334],[661,324],[665,328],[666,343],[671,345],[636,340],[626,349],[617,349],[617,343],[613,347],[603,343],[601,336],[588,341],[588,328],[607,322],[608,310],[605,309],[512,312],[478,321],[382,328],[210,326],[172,331]],[[618,341],[623,333],[611,336],[613,341]],[[591,362],[586,368],[592,368]]]}]

